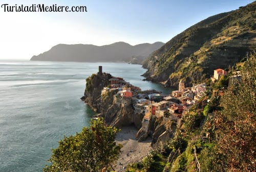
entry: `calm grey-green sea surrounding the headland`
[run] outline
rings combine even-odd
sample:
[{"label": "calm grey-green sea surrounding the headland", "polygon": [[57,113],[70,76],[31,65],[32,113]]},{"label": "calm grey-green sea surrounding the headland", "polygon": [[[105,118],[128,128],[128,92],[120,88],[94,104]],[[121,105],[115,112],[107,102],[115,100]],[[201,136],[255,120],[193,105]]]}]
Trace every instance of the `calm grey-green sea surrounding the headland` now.
[{"label": "calm grey-green sea surrounding the headland", "polygon": [[0,171],[42,171],[58,140],[89,125],[95,113],[79,98],[98,66],[142,90],[170,92],[142,81],[139,65],[0,60]]}]

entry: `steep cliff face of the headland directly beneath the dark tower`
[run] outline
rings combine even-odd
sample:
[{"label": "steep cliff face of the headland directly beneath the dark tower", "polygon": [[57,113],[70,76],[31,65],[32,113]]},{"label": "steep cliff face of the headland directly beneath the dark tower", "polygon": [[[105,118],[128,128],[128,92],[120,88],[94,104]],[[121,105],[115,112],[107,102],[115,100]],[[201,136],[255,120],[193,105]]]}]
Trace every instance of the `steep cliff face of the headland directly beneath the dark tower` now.
[{"label": "steep cliff face of the headland directly beneath the dark tower", "polygon": [[104,87],[109,85],[110,74],[93,74],[87,78],[86,90],[82,99],[90,105],[95,112],[101,113],[104,121],[112,126],[121,128],[122,126],[135,125],[141,127],[143,115],[135,114],[131,105],[117,105],[113,101],[113,96],[117,90],[101,94]]}]

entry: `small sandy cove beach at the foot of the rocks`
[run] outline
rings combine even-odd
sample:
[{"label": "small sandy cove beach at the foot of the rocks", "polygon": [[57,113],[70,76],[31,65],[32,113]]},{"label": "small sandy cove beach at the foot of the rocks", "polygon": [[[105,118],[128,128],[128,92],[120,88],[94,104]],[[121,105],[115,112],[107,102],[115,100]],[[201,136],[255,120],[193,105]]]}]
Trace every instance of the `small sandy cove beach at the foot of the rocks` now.
[{"label": "small sandy cove beach at the foot of the rocks", "polygon": [[138,130],[135,127],[122,127],[116,136],[116,142],[123,145],[121,155],[114,168],[116,171],[125,171],[127,164],[138,162],[152,149],[151,139],[143,142],[136,140]]}]

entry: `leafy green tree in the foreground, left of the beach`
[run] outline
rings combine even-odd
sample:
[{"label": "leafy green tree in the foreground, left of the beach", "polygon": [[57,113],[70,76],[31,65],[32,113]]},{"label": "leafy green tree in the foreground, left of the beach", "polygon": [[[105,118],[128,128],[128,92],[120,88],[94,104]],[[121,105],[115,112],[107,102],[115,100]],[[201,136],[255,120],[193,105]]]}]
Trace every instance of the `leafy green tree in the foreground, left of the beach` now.
[{"label": "leafy green tree in the foreground, left of the beach", "polygon": [[52,149],[52,164],[44,171],[99,171],[112,166],[122,147],[115,142],[118,131],[106,126],[103,118],[92,120],[90,128],[83,127],[81,133],[59,141],[59,147]]}]

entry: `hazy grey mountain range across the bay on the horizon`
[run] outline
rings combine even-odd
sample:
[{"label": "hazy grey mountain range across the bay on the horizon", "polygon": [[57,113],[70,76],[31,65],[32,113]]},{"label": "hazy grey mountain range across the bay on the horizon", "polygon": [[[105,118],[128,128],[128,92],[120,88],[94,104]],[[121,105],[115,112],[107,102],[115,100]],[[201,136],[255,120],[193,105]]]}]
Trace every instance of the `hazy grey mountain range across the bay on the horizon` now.
[{"label": "hazy grey mountain range across the bay on the horizon", "polygon": [[125,42],[115,42],[111,45],[94,46],[94,45],[65,45],[59,44],[51,50],[33,56],[30,60],[39,61],[131,61],[133,56],[142,56],[143,59],[155,50],[164,45],[163,42],[154,44],[138,44],[131,46]]}]

